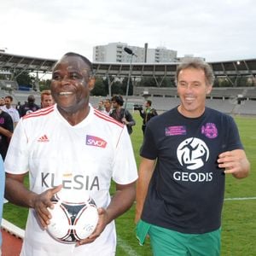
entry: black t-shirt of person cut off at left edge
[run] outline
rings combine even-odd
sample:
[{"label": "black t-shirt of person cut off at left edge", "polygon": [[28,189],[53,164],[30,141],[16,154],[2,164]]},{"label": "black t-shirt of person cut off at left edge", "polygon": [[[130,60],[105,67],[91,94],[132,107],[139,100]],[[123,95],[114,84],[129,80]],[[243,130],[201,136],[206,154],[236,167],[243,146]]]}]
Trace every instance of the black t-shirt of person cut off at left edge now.
[{"label": "black t-shirt of person cut off at left edge", "polygon": [[[9,113],[4,112],[3,110],[1,110],[0,112],[0,126],[6,130],[13,132],[14,122],[12,117],[9,115]],[[0,154],[2,155],[3,160],[5,159],[8,147],[9,137],[6,137],[2,133],[0,133]]]}]

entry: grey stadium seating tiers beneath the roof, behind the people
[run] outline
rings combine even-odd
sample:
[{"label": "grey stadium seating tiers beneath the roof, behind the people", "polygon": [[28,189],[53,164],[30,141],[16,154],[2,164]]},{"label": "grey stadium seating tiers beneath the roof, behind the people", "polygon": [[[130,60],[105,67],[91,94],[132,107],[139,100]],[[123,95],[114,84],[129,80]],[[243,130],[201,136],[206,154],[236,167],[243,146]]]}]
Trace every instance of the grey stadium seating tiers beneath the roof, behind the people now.
[{"label": "grey stadium seating tiers beneath the roof, behind the people", "polygon": [[[144,89],[145,88],[143,88],[143,90]],[[168,90],[170,90],[170,88]],[[176,91],[176,88],[174,88],[174,90]],[[171,90],[172,96],[158,96],[159,94],[156,94],[157,96],[154,96],[154,94],[152,96],[129,96],[127,108],[129,110],[133,110],[133,105],[143,105],[146,99],[150,99],[152,101],[153,108],[155,108],[159,113],[175,108],[179,104],[179,98],[177,94],[175,95],[174,90]],[[152,90],[152,92],[156,91]],[[27,96],[30,94],[35,96],[36,103],[40,106],[40,92],[13,90],[9,94],[9,91],[0,90],[0,97],[11,95],[14,98],[14,104],[17,104],[17,102],[23,104],[27,100]],[[237,98],[237,95],[239,94],[243,95],[241,101],[238,101]],[[123,97],[125,99],[125,96]],[[96,108],[98,106],[98,102],[106,98],[109,97],[90,96],[90,103]],[[229,114],[256,115],[256,100],[252,99],[256,99],[256,88],[250,88],[247,90],[241,88],[212,90],[211,95],[207,98],[207,107]]]}]

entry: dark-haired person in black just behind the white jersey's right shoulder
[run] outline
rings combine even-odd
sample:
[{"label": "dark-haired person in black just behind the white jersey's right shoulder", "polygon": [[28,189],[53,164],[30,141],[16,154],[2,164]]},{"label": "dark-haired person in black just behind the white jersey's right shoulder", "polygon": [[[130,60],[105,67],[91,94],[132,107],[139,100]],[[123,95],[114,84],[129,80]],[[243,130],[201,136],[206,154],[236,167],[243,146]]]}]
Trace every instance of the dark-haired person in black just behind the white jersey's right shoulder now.
[{"label": "dark-haired person in black just behind the white jersey's right shoulder", "polygon": [[125,124],[128,130],[128,133],[132,133],[132,126],[136,125],[135,120],[133,119],[131,113],[125,109],[122,108],[124,105],[124,100],[122,96],[113,96],[112,99],[112,106],[113,109],[109,116],[113,117],[113,119],[116,119],[122,124]]}]

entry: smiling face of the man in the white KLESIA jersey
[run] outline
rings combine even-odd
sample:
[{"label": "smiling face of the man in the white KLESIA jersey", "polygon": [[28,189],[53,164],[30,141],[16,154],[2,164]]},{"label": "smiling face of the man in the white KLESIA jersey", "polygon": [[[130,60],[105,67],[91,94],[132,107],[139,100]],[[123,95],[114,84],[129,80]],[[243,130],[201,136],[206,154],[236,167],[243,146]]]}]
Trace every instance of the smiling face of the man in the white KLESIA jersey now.
[{"label": "smiling face of the man in the white KLESIA jersey", "polygon": [[64,55],[54,67],[51,92],[57,108],[65,113],[77,113],[88,108],[94,79],[90,67],[79,55]]}]

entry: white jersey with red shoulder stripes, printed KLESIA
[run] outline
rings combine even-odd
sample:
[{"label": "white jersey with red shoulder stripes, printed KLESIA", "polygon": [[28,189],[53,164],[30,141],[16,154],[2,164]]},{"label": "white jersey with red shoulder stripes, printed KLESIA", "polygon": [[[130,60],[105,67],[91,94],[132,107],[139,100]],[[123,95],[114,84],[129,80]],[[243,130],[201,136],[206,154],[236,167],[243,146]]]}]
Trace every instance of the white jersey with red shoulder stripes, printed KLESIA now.
[{"label": "white jersey with red shoulder stripes, printed KLESIA", "polygon": [[[62,184],[67,200],[90,195],[97,207],[108,207],[111,179],[136,181],[137,166],[124,125],[90,106],[78,125],[70,125],[56,108],[42,108],[23,117],[16,126],[5,160],[5,171],[29,170],[30,189],[42,193]],[[38,224],[30,209],[21,255],[114,255],[114,222],[93,243],[75,247],[55,241]]]}]

